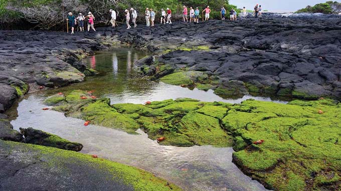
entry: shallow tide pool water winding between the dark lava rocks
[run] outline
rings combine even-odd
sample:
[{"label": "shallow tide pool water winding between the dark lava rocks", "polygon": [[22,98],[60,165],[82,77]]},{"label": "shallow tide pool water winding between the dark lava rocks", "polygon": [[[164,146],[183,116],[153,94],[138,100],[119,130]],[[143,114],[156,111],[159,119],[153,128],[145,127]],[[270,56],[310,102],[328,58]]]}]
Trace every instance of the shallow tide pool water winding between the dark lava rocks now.
[{"label": "shallow tide pool water winding between the dark lava rocks", "polygon": [[85,82],[68,87],[32,93],[19,103],[18,116],[11,123],[15,129],[33,127],[84,145],[81,152],[136,166],[172,181],[186,190],[266,190],[259,182],[244,175],[232,163],[232,148],[212,146],[161,146],[147,135],[130,135],[115,129],[94,125],[85,127],[79,119],[66,118],[55,111],[42,111],[46,95],[73,89],[95,90],[96,96],[112,103],[138,103],[176,98],[240,103],[246,99],[271,101],[269,98],[244,96],[224,100],[212,90],[190,90],[138,77],[133,62],[145,53],[119,49],[86,59],[89,66],[101,72]]}]

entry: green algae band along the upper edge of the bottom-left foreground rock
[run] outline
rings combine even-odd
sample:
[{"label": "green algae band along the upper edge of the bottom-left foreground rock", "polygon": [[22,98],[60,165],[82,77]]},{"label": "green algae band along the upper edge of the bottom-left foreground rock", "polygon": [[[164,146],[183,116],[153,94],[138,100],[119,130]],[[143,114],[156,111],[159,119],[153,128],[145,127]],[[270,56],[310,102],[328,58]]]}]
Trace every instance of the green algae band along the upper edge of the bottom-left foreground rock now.
[{"label": "green algae band along the upper edge of the bottom-left foreground rock", "polygon": [[[8,148],[9,154],[12,151],[30,153],[31,157],[44,160],[44,163],[41,165],[50,169],[59,170],[66,174],[74,170],[72,166],[77,165],[81,166],[81,169],[94,169],[103,172],[102,174],[107,181],[113,180],[113,183],[117,182],[117,180],[122,181],[127,186],[132,186],[134,190],[182,190],[173,183],[155,177],[150,172],[105,159],[93,158],[91,155],[87,154],[2,140],[0,140],[0,146],[1,148]],[[85,170],[85,172],[87,171]]]}]

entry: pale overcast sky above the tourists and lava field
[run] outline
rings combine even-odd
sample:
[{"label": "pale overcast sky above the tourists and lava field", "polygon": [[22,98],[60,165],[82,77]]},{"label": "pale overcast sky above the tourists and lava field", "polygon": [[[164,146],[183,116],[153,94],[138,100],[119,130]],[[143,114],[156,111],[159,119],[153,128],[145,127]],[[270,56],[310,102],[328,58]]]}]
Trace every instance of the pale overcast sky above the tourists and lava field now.
[{"label": "pale overcast sky above the tourists and lava field", "polygon": [[[255,5],[258,4],[262,6],[263,10],[294,12],[308,5],[313,6],[326,1],[328,0],[229,0],[229,3],[236,5],[238,8],[246,7],[248,10],[253,10]],[[333,1],[340,2],[338,0]]]}]

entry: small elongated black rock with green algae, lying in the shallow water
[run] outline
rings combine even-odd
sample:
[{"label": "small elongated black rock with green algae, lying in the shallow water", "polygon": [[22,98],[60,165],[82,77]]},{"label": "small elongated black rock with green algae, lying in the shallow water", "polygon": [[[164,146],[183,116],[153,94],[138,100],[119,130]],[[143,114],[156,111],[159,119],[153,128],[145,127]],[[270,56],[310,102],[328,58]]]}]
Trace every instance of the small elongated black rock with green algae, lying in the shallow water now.
[{"label": "small elongated black rock with green algae, lying in the shallow water", "polygon": [[48,147],[56,147],[60,149],[73,151],[80,151],[83,148],[83,145],[80,143],[70,142],[57,135],[33,129],[32,127],[29,127],[27,129],[20,128],[20,132],[25,137],[24,139],[25,143],[43,145]]}]

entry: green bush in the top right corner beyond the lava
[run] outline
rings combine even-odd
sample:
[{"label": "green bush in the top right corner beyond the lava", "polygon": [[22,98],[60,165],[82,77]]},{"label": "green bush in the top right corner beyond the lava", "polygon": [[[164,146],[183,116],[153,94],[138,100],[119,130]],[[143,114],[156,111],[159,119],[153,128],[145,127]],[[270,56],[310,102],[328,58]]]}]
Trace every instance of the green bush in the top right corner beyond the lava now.
[{"label": "green bush in the top right corner beyond the lava", "polygon": [[339,12],[341,12],[341,3],[328,1],[314,6],[307,6],[306,8],[298,10],[296,13],[338,14]]}]

